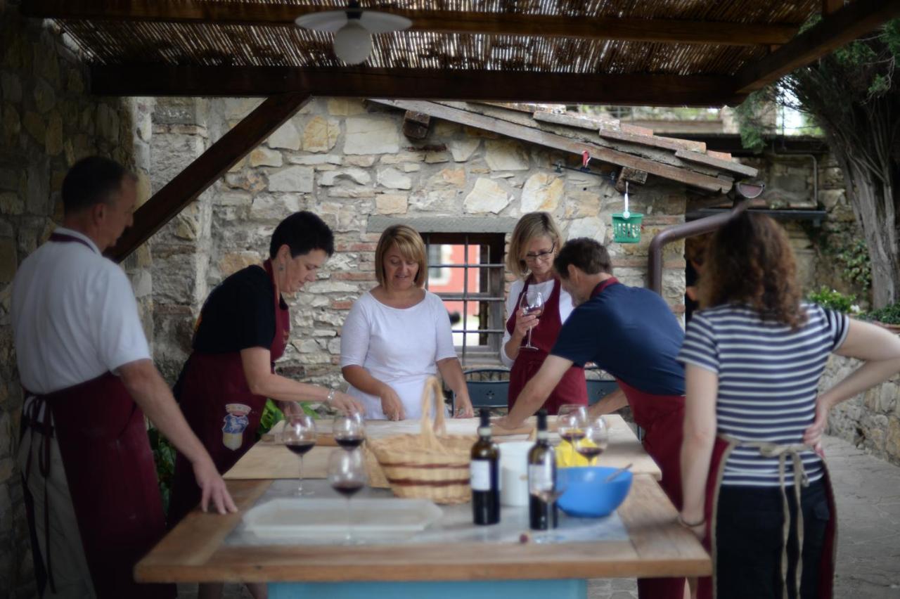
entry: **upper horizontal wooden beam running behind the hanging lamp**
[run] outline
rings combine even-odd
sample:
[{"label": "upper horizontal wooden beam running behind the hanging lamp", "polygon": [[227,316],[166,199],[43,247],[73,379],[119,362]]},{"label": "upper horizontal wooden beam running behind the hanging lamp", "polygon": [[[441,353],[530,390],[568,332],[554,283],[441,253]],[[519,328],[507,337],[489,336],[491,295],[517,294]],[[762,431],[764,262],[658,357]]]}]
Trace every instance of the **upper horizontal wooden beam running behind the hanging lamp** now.
[{"label": "upper horizontal wooden beam running behind the hanging lamp", "polygon": [[[31,0],[24,14],[51,19],[90,21],[210,22],[229,25],[293,27],[307,13],[334,10],[330,6],[297,6],[249,2],[192,0]],[[794,37],[799,23],[705,22],[671,19],[574,17],[550,14],[488,13],[391,8],[409,18],[408,31],[531,35],[595,40],[768,46]]]}]

